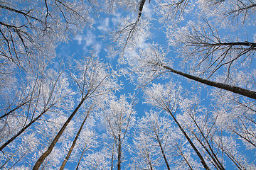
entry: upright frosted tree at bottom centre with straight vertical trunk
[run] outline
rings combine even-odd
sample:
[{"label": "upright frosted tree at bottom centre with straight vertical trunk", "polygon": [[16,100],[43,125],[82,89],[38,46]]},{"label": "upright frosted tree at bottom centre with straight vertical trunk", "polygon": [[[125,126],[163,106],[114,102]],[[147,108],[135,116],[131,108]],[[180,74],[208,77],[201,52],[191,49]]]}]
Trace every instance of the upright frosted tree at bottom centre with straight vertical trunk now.
[{"label": "upright frosted tree at bottom centre with straight vertical trunk", "polygon": [[113,142],[111,169],[113,169],[114,156],[117,155],[117,169],[121,170],[127,136],[135,121],[134,103],[128,103],[126,96],[120,96],[119,99],[113,98],[109,105],[109,108],[104,110],[103,116],[107,134],[110,135]]}]

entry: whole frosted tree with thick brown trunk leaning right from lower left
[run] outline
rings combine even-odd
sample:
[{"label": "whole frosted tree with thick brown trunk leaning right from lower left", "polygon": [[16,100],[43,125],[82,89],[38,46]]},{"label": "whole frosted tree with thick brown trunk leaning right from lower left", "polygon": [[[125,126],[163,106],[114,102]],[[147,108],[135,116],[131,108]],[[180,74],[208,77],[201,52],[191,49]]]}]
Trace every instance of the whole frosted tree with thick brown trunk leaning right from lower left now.
[{"label": "whole frosted tree with thick brown trunk leaning right from lower left", "polygon": [[105,69],[105,65],[100,63],[100,61],[94,57],[93,53],[90,57],[87,57],[79,62],[77,61],[76,64],[78,74],[73,72],[71,76],[73,77],[75,84],[78,86],[78,91],[81,96],[80,102],[76,106],[73,113],[71,113],[71,115],[68,117],[68,120],[65,121],[58,134],[54,137],[53,142],[51,142],[46,152],[43,152],[41,157],[39,157],[35,166],[33,166],[33,169],[38,169],[41,166],[44,159],[46,159],[46,157],[53,150],[53,147],[55,147],[65,128],[67,128],[68,124],[78,112],[78,109],[82,106],[85,100],[95,96],[107,95],[118,87],[116,81],[114,80],[114,74],[108,72],[108,70]]}]

